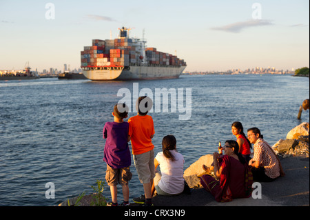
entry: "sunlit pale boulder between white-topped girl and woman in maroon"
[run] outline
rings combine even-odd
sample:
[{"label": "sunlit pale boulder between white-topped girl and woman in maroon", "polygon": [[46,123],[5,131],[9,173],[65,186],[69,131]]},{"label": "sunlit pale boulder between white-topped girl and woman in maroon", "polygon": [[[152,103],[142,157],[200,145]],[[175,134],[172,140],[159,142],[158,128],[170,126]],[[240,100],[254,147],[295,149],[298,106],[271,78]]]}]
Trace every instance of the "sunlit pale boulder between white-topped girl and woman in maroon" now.
[{"label": "sunlit pale boulder between white-topped girl and woman in maroon", "polygon": [[205,166],[211,166],[213,163],[213,155],[206,154],[198,159],[198,161],[192,163],[189,168],[187,168],[184,172],[184,179],[187,181],[189,188],[201,188],[200,178],[204,174],[207,174],[205,170],[203,170],[203,164]]}]

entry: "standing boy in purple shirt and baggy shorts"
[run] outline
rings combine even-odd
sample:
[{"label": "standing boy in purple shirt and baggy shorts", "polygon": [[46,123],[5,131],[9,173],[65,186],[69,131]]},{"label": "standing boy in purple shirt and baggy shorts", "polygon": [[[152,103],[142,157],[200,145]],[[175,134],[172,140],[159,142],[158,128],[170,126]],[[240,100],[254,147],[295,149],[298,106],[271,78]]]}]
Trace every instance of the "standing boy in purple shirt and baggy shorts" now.
[{"label": "standing boy in purple shirt and baggy shorts", "polygon": [[118,103],[114,106],[112,112],[114,122],[107,122],[103,128],[103,139],[105,141],[103,161],[107,163],[107,171],[105,172],[105,180],[110,186],[112,204],[110,206],[118,206],[117,204],[117,184],[121,184],[123,188],[124,201],[121,206],[129,206],[129,186],[128,181],[132,179],[130,172],[131,155],[128,147],[130,137],[128,137],[128,122],[123,121],[127,118],[128,107],[125,103]]}]

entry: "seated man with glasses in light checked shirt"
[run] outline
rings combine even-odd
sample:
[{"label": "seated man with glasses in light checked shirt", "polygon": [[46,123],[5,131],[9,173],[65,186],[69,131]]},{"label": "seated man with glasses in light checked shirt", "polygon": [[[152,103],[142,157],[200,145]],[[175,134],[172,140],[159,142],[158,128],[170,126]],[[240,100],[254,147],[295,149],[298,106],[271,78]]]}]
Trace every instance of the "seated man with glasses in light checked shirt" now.
[{"label": "seated man with glasses in light checked shirt", "polygon": [[247,139],[254,143],[254,157],[249,161],[249,166],[255,181],[270,182],[285,176],[276,153],[269,143],[262,139],[258,128],[249,128]]}]

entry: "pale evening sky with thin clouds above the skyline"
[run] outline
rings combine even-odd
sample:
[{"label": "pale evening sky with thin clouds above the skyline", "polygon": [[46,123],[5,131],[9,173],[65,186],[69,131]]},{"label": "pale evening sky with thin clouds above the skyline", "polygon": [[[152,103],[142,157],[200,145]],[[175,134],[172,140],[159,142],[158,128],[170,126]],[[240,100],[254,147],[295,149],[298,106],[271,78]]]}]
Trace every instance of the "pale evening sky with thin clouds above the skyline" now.
[{"label": "pale evening sky with thin clouds above the skyline", "polygon": [[309,0],[0,0],[0,70],[79,68],[123,26],[185,71],[309,67]]}]

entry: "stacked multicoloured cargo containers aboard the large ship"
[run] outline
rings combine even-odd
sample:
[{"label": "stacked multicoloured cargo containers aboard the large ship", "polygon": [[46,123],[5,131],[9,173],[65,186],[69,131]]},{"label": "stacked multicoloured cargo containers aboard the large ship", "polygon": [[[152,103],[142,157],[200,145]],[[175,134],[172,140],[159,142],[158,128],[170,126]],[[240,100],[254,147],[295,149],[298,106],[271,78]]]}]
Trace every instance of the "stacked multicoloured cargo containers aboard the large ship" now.
[{"label": "stacked multicoloured cargo containers aboard the large ship", "polygon": [[92,46],[85,46],[81,51],[81,67],[123,67],[140,65],[143,59],[152,66],[186,66],[183,59],[172,54],[157,51],[156,48],[142,47],[136,39],[92,40]]}]

